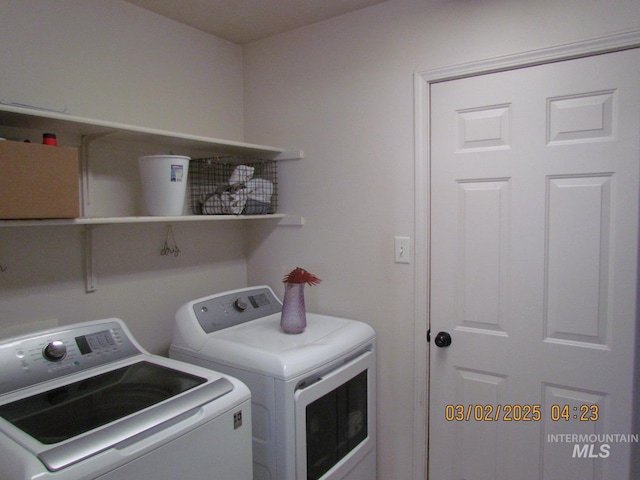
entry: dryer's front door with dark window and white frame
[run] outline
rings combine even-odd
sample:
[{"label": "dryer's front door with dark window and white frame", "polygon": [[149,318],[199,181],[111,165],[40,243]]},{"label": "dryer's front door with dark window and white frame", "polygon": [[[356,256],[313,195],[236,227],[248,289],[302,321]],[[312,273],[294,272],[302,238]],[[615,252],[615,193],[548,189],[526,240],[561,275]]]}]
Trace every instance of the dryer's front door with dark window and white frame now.
[{"label": "dryer's front door with dark window and white frame", "polygon": [[296,391],[297,478],[344,478],[372,450],[374,365],[367,351]]}]

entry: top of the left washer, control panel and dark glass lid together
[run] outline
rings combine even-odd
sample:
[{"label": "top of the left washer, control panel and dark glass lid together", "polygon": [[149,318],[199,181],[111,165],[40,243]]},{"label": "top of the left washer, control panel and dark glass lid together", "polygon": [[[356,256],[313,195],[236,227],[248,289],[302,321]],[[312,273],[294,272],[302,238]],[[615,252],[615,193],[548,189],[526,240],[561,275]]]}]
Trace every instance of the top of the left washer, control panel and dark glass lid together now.
[{"label": "top of the left washer, control panel and dark glass lid together", "polygon": [[145,352],[117,318],[0,340],[0,365],[0,437],[52,472],[238,393],[217,372]]}]

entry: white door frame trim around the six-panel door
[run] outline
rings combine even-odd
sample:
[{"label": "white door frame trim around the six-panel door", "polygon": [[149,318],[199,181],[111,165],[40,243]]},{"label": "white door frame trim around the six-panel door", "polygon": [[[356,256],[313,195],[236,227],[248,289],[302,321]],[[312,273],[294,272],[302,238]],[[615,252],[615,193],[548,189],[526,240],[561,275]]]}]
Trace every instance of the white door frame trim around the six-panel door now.
[{"label": "white door frame trim around the six-panel door", "polygon": [[640,47],[640,30],[627,30],[580,42],[531,50],[469,63],[443,66],[414,73],[414,431],[413,479],[427,478],[429,343],[427,332],[430,289],[430,86],[480,74],[572,60]]}]

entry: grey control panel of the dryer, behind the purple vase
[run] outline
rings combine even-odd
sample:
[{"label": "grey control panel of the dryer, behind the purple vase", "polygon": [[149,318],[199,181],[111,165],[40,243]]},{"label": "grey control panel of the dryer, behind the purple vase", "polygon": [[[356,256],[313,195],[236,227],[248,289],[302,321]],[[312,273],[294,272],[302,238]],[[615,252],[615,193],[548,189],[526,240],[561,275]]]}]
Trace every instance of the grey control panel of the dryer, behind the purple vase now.
[{"label": "grey control panel of the dryer, behind the purple vase", "polygon": [[282,311],[280,300],[267,286],[211,295],[191,304],[191,312],[206,333]]}]

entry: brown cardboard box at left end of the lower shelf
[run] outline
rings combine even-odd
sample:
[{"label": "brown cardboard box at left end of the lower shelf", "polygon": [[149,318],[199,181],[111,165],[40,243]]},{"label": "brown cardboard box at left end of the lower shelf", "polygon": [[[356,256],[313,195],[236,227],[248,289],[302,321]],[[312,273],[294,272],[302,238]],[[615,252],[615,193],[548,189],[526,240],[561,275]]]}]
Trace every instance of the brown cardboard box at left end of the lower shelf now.
[{"label": "brown cardboard box at left end of the lower shelf", "polygon": [[77,148],[0,141],[0,218],[78,216]]}]

